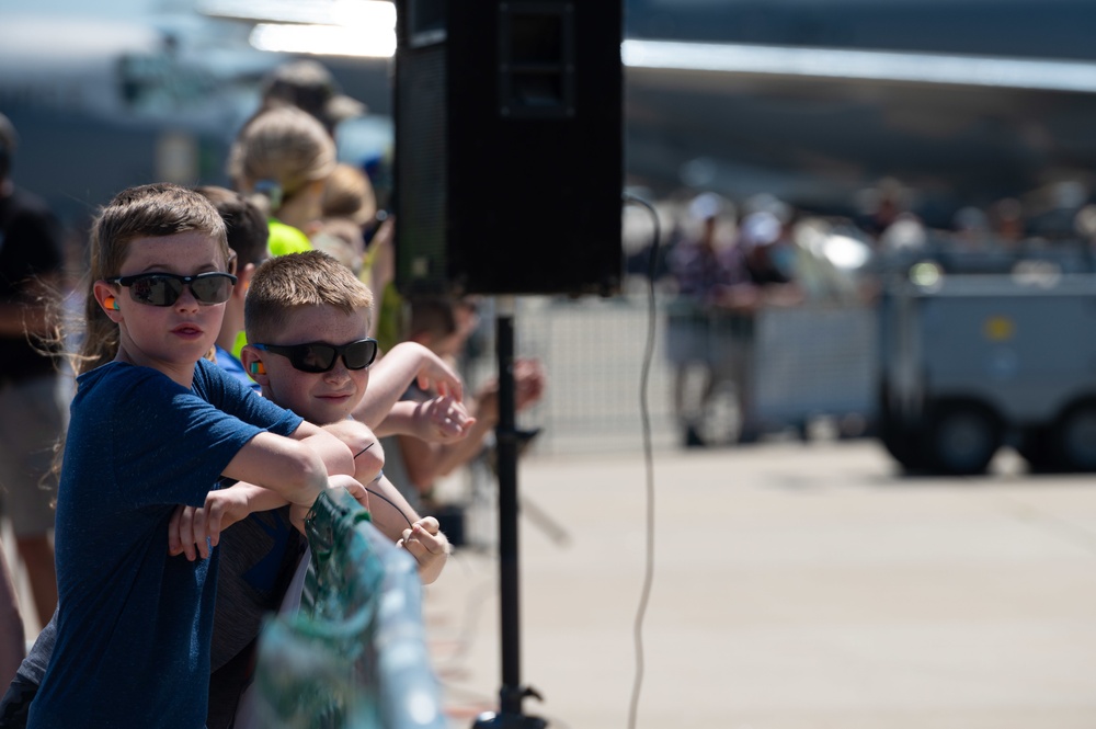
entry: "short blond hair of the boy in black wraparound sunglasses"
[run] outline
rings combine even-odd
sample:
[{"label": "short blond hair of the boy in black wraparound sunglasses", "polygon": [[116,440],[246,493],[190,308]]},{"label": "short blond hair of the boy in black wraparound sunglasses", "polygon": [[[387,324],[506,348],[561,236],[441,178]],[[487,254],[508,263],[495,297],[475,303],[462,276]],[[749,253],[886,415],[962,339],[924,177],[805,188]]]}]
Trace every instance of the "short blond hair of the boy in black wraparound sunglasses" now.
[{"label": "short blond hair of the boy in black wraparound sunglasses", "polygon": [[333,306],[345,314],[373,309],[373,292],[354,273],[322,251],[278,255],[251,278],[243,303],[249,342],[265,342],[285,329],[297,307]]}]

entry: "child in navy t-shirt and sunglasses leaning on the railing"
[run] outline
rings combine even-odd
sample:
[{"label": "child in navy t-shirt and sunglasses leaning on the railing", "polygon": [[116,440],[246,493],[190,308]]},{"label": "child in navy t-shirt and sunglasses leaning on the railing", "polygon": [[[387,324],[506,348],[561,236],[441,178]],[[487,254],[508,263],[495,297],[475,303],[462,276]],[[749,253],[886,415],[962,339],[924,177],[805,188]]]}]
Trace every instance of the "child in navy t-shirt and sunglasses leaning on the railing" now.
[{"label": "child in navy t-shirt and sunglasses leaning on the railing", "polygon": [[57,641],[31,727],[205,725],[218,555],[169,556],[178,504],[202,506],[222,477],[301,506],[327,488],[367,500],[350,447],[204,358],[229,258],[220,215],[183,187],[126,190],[95,221],[57,494]]}]

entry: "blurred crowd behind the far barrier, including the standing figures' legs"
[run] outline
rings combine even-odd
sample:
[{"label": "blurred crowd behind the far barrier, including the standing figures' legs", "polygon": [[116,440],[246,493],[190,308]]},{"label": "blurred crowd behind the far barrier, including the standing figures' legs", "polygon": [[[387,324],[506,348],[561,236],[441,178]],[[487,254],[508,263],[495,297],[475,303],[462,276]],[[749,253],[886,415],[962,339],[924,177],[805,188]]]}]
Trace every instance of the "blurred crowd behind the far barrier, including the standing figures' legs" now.
[{"label": "blurred crowd behind the far barrier, including the standing figures' legs", "polygon": [[[663,240],[641,210],[626,209],[626,266],[653,278],[667,301],[665,356],[685,446],[707,445],[701,421],[730,384],[738,443],[760,436],[754,407],[757,315],[774,307],[872,307],[911,274],[1054,277],[1096,272],[1096,204],[1066,181],[984,206],[963,205],[949,225],[918,214],[917,191],[894,179],[865,190],[849,215],[820,215],[760,193],[732,200],[683,190],[654,203]],[[933,216],[939,220],[938,215]]]}]

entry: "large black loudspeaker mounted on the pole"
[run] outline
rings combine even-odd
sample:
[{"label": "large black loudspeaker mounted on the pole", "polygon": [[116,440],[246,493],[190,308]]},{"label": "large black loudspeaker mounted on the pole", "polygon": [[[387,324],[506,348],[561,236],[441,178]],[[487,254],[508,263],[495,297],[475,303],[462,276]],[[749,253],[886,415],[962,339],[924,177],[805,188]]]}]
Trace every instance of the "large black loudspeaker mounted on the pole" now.
[{"label": "large black loudspeaker mounted on the pole", "polygon": [[396,285],[619,291],[620,0],[398,0]]}]

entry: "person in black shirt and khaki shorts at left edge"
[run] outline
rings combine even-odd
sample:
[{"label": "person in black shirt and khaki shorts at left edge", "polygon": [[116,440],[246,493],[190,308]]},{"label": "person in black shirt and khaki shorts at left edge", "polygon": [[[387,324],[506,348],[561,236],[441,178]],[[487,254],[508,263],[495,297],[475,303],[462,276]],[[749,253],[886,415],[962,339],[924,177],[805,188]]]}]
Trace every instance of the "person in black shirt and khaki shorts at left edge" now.
[{"label": "person in black shirt and khaki shorts at left edge", "polygon": [[12,181],[16,140],[0,114],[0,488],[42,626],[57,606],[47,482],[55,485],[54,444],[65,429],[66,402],[59,368],[39,338],[50,330],[47,299],[61,285],[65,253],[46,204]]}]

